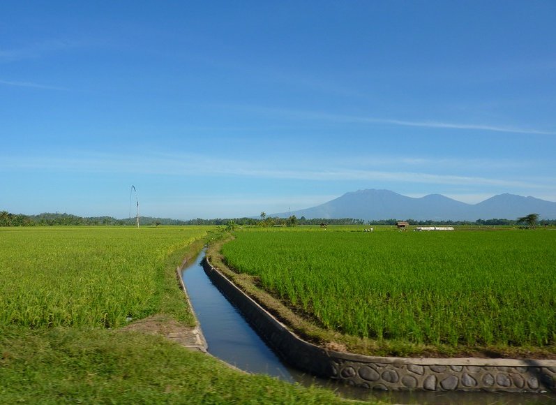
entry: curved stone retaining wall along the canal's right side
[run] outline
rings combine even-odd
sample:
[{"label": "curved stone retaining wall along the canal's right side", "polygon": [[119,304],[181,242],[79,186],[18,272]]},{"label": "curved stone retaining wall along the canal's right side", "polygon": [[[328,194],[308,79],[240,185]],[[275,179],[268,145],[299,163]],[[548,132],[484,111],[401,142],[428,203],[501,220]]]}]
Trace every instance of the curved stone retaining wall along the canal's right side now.
[{"label": "curved stone retaining wall along the canal's right side", "polygon": [[329,351],[296,336],[208,262],[211,281],[285,362],[375,390],[556,392],[556,360],[389,358]]}]

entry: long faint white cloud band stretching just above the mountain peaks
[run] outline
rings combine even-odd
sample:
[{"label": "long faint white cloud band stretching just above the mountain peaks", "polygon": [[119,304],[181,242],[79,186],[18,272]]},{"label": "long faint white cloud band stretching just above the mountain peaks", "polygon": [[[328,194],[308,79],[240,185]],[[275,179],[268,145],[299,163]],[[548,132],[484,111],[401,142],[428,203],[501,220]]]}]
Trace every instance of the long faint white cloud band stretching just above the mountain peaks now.
[{"label": "long faint white cloud band stretching just above the mountain peaks", "polygon": [[[70,154],[71,156],[71,154]],[[327,181],[396,182],[411,184],[444,184],[450,186],[490,186],[520,189],[546,189],[547,184],[556,184],[555,179],[508,179],[505,177],[480,177],[465,175],[444,175],[435,172],[364,170],[353,168],[281,168],[273,163],[253,162],[233,159],[216,159],[204,155],[159,154],[140,156],[137,159],[110,154],[73,154],[71,157],[24,158],[3,156],[0,170],[61,170],[79,172],[142,173],[146,175],[166,175],[176,177],[244,177],[255,179],[290,179]],[[290,164],[290,163],[288,163]]]}]

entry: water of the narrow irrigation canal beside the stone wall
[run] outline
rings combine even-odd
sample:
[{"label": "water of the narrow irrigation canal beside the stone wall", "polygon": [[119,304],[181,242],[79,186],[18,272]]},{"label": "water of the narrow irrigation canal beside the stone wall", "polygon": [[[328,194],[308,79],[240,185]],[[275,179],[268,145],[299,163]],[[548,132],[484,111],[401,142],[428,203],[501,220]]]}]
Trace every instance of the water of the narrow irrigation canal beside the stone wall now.
[{"label": "water of the narrow irrigation canal beside the stone wall", "polygon": [[268,374],[280,380],[302,385],[319,385],[334,390],[341,397],[381,400],[395,404],[555,404],[554,394],[507,394],[498,392],[380,392],[348,387],[332,380],[316,378],[288,367],[246,318],[206,276],[201,265],[205,251],[183,267],[181,277],[199,320],[211,355],[254,374]]}]

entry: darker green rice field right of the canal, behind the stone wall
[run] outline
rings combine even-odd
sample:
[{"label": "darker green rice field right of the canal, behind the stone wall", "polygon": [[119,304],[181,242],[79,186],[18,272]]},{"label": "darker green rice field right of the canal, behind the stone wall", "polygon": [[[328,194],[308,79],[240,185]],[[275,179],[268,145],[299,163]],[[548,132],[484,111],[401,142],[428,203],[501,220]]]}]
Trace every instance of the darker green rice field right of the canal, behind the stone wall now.
[{"label": "darker green rice field right of the canal, behind the stone wall", "polygon": [[457,346],[556,342],[556,232],[241,230],[226,262],[363,338]]}]

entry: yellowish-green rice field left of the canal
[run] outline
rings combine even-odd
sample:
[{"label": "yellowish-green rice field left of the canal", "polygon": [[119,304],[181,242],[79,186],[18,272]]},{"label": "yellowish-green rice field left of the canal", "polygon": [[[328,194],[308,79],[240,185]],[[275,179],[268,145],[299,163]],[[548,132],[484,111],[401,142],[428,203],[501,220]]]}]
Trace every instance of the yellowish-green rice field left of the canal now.
[{"label": "yellowish-green rice field left of the canal", "polygon": [[118,327],[154,314],[166,259],[206,230],[0,228],[0,325]]}]

